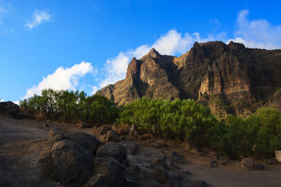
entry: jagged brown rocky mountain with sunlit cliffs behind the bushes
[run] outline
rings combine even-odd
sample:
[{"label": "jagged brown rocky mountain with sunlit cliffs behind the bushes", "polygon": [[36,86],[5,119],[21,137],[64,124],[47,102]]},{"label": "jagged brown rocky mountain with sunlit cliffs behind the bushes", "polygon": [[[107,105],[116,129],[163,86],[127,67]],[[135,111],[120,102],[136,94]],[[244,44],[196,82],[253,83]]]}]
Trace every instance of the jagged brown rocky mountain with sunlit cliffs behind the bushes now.
[{"label": "jagged brown rocky mountain with sunlit cliffs behind the bushes", "polygon": [[107,85],[100,95],[126,104],[138,97],[192,98],[218,118],[248,116],[260,106],[281,106],[281,50],[245,48],[231,41],[195,42],[180,57],[154,48],[129,63],[126,78]]}]

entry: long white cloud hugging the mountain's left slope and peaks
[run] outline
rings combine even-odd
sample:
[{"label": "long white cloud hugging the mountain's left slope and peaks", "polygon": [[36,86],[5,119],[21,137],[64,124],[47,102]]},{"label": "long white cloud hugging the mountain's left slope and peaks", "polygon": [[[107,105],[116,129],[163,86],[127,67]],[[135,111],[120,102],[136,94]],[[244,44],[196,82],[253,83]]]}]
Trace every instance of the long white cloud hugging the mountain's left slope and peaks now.
[{"label": "long white cloud hugging the mountain's left slope and peaks", "polygon": [[[216,38],[223,35],[217,34]],[[176,29],[171,29],[166,34],[160,36],[155,43],[150,45],[142,45],[138,48],[127,50],[125,53],[120,52],[117,57],[107,60],[105,64],[106,77],[98,84],[98,88],[103,88],[106,85],[116,83],[126,76],[126,69],[132,57],[137,59],[146,55],[151,48],[155,48],[162,55],[175,55],[176,53],[186,53],[195,41],[204,42],[211,41],[214,36],[209,35],[207,38],[202,39],[199,33],[194,34],[181,34]]]}]

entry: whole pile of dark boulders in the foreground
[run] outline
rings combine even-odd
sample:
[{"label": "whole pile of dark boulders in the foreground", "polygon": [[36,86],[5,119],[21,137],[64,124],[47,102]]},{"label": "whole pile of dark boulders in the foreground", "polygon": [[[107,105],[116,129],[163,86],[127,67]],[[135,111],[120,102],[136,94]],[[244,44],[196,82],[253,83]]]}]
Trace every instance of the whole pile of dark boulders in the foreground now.
[{"label": "whole pile of dark boulders in the foreground", "polygon": [[183,155],[177,152],[166,156],[161,151],[143,151],[133,141],[100,144],[90,134],[60,129],[51,129],[42,145],[36,159],[39,174],[64,186],[191,185],[185,171],[181,174],[167,164],[183,164]]}]

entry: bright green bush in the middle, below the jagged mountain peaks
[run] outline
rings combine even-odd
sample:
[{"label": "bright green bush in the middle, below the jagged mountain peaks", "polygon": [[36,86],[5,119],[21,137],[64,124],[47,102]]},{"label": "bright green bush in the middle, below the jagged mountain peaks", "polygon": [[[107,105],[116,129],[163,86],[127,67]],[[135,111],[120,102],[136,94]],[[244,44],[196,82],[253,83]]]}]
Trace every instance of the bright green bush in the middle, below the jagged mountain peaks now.
[{"label": "bright green bush in the middle, below the jagged mountain peaks", "polygon": [[143,97],[126,104],[119,116],[119,123],[135,124],[159,137],[202,147],[214,141],[219,125],[209,108],[192,99],[171,102]]}]

